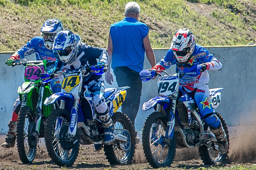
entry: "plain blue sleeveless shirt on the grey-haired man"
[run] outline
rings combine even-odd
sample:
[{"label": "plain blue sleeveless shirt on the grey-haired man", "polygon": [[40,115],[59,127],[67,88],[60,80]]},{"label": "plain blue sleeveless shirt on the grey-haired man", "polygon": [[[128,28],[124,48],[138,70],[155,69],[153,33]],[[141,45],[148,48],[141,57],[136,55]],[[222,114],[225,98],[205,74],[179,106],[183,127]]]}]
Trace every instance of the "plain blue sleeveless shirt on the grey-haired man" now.
[{"label": "plain blue sleeveless shirt on the grey-haired man", "polygon": [[111,67],[126,66],[140,72],[143,69],[145,48],[143,39],[148,34],[146,24],[135,18],[125,17],[110,27],[113,43]]}]

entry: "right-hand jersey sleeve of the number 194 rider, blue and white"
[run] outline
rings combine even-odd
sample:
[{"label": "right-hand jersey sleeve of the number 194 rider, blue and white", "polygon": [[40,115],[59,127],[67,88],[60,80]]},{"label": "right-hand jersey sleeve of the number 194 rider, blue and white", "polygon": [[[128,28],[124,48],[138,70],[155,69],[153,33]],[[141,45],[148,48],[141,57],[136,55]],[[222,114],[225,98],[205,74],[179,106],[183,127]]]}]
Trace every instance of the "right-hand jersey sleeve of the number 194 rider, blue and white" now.
[{"label": "right-hand jersey sleeve of the number 194 rider, blue and white", "polygon": [[202,47],[200,53],[198,55],[202,58],[202,63],[207,65],[206,69],[210,71],[220,70],[222,69],[222,64],[215,58],[211,53],[209,53],[206,49]]}]

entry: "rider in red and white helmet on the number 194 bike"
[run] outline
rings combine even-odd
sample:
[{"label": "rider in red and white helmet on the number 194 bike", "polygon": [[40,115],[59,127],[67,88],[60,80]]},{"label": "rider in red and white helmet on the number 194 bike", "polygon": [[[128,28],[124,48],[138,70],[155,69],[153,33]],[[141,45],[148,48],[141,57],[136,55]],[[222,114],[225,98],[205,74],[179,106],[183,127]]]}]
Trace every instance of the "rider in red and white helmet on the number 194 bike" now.
[{"label": "rider in red and white helmet on the number 194 bike", "polygon": [[212,107],[210,91],[207,85],[209,82],[208,70],[215,71],[221,69],[221,62],[202,46],[196,44],[194,35],[191,31],[184,28],[175,32],[170,49],[152,69],[165,70],[175,64],[176,72],[183,72],[185,67],[201,65],[200,75],[197,77],[182,77],[180,79],[180,87],[195,100],[201,117],[216,136],[219,151],[225,154],[228,150],[226,134],[221,121],[216,116],[215,110]]}]

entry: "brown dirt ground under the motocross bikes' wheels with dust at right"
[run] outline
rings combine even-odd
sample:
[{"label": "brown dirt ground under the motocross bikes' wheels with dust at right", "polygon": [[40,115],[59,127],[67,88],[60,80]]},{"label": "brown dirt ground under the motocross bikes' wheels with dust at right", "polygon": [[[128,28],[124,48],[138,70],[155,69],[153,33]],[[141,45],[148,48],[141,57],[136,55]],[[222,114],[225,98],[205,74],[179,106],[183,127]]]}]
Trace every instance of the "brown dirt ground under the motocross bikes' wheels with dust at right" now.
[{"label": "brown dirt ground under the motocross bikes' wheels with dust at right", "polygon": [[[256,135],[244,133],[246,129],[255,129],[255,127],[232,127],[230,130],[230,164],[236,165],[255,165],[256,163],[256,147],[254,139]],[[4,141],[4,135],[0,135],[0,143]],[[74,165],[70,168],[63,168],[54,165],[49,158],[44,141],[39,142],[39,147],[33,164],[22,164],[17,154],[16,146],[12,149],[4,149],[0,147],[0,170],[10,169],[35,169],[35,170],[65,170],[65,169],[152,169],[146,163],[142,146],[138,145],[135,152],[135,163],[129,166],[110,166],[105,159],[103,150],[95,151],[92,145],[80,146],[79,156]],[[170,169],[201,169],[204,166],[199,158],[197,149],[177,149],[174,163]]]}]

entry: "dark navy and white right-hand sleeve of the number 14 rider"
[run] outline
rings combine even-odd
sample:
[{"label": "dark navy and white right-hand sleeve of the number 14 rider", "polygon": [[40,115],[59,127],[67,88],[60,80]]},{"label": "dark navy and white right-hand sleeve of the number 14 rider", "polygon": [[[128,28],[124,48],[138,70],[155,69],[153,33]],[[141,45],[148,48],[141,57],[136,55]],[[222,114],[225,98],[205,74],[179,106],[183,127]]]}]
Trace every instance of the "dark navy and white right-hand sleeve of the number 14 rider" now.
[{"label": "dark navy and white right-hand sleeve of the number 14 rider", "polygon": [[86,48],[86,54],[89,58],[98,58],[99,62],[103,62],[105,64],[108,64],[109,55],[106,49],[99,48],[99,47],[92,47],[92,46],[85,46]]}]

